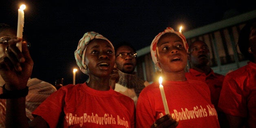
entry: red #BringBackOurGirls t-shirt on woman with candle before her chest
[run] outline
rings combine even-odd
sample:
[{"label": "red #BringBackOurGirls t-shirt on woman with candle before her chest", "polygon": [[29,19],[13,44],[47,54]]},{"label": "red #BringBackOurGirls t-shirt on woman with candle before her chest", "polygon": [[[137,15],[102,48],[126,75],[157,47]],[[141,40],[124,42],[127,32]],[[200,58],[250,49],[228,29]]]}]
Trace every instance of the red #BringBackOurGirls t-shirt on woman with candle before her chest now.
[{"label": "red #BringBackOurGirls t-shirt on woman with candle before her chest", "polygon": [[[178,128],[219,128],[218,117],[210,100],[208,86],[188,79],[185,82],[162,83],[170,114],[179,121]],[[149,128],[165,114],[158,83],[144,88],[137,102],[136,126]]]}]

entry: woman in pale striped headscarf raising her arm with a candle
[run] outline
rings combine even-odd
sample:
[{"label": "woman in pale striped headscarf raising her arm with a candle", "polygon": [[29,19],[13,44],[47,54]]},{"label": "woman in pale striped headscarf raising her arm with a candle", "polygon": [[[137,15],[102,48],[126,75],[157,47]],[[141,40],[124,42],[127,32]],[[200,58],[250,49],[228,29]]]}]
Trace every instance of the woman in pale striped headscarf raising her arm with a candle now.
[{"label": "woman in pale striped headscarf raising her arm with a candle", "polygon": [[57,90],[32,113],[37,116],[28,124],[25,113],[26,82],[31,75],[33,60],[25,42],[22,53],[17,49],[16,43],[20,40],[9,40],[9,49],[0,61],[0,73],[6,82],[4,93],[9,98],[7,127],[134,128],[133,100],[109,86],[115,64],[114,47],[108,39],[93,31],[84,34],[75,51],[77,65],[89,75],[89,82],[69,84]]}]

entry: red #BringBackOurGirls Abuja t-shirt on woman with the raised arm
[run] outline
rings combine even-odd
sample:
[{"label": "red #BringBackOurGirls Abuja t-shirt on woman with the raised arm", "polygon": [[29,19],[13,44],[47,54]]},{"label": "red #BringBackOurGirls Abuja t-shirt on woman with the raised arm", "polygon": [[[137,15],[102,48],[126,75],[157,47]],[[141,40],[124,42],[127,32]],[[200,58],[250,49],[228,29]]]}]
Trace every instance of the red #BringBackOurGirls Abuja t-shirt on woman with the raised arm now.
[{"label": "red #BringBackOurGirls Abuja t-shirt on woman with the raised arm", "polygon": [[94,90],[85,83],[63,86],[32,114],[40,115],[51,128],[62,119],[65,128],[134,128],[135,125],[132,99],[113,89]]}]

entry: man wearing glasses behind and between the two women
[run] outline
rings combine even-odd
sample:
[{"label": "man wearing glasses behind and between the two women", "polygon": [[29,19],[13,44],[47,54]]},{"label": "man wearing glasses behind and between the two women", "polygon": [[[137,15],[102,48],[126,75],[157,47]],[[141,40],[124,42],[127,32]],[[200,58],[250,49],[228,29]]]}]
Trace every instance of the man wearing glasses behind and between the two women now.
[{"label": "man wearing glasses behind and between the two women", "polygon": [[119,73],[119,81],[115,84],[115,91],[132,98],[136,106],[139,93],[150,83],[138,78],[134,71],[137,53],[131,44],[120,42],[118,46],[115,46],[115,54]]}]

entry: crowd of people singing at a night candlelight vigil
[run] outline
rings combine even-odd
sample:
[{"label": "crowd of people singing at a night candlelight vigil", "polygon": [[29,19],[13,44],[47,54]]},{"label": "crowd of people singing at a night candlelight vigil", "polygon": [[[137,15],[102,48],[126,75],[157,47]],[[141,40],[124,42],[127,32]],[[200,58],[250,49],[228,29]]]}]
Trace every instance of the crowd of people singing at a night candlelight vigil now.
[{"label": "crowd of people singing at a night candlelight vigil", "polygon": [[[150,45],[152,61],[164,78],[164,104],[159,83],[140,79],[136,50],[113,44],[90,31],[74,52],[85,83],[56,88],[30,78],[33,59],[15,29],[0,28],[0,127],[6,128],[255,128],[256,22],[238,37],[246,66],[226,76],[210,68],[210,51],[201,40],[190,45],[182,33],[167,27]],[[22,42],[22,51],[16,44]],[[190,62],[189,72],[185,71]],[[167,105],[168,111],[165,106]]]}]

